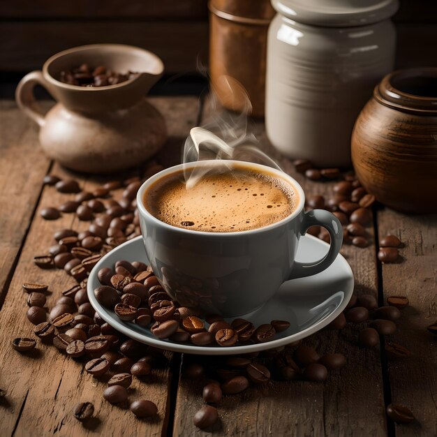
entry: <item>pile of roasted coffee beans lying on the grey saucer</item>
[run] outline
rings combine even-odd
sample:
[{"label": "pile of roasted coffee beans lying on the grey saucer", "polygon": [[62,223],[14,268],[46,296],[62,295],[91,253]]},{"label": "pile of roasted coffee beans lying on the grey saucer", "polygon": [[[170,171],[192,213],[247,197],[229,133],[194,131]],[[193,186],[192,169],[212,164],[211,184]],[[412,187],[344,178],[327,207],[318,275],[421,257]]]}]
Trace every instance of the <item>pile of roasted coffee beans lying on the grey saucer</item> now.
[{"label": "pile of roasted coffee beans lying on the grey saucer", "polygon": [[114,269],[98,271],[101,286],[94,289],[100,304],[112,309],[120,320],[142,327],[151,325],[158,339],[177,343],[190,341],[195,346],[236,346],[272,341],[290,323],[272,320],[255,327],[249,320],[236,318],[228,323],[218,315],[201,318],[198,308],[181,306],[161,286],[150,266],[143,262],[119,260]]}]

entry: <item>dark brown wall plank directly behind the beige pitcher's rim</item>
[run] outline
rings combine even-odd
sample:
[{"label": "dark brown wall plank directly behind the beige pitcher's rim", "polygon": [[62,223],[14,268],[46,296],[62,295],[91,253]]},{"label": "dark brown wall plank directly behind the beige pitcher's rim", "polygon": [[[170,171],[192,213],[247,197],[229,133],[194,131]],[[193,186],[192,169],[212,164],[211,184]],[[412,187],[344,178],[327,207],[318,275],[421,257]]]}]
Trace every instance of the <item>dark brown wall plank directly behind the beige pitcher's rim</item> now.
[{"label": "dark brown wall plank directly behind the beige pitcher's rim", "polygon": [[61,50],[92,43],[120,43],[151,50],[165,73],[195,72],[206,64],[207,22],[3,22],[0,64],[3,71],[40,69]]}]

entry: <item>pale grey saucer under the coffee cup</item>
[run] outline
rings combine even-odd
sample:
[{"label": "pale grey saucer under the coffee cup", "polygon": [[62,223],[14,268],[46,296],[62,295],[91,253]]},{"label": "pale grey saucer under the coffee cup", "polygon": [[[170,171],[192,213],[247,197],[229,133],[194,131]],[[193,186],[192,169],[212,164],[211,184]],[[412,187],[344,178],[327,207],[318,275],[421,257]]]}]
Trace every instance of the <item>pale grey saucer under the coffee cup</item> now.
[{"label": "pale grey saucer under the coffee cup", "polygon": [[[316,237],[305,235],[300,238],[296,259],[313,261],[327,253],[328,245]],[[244,346],[195,346],[190,343],[175,343],[161,340],[151,334],[149,328],[135,323],[123,322],[114,311],[105,309],[94,297],[94,288],[100,286],[97,272],[102,267],[114,267],[118,260],[142,261],[148,263],[142,237],[136,237],[121,244],[105,255],[92,269],[88,279],[88,297],[91,305],[100,316],[119,332],[132,339],[156,348],[173,350],[195,355],[234,355],[251,353],[284,346],[293,341],[318,332],[332,322],[345,309],[353,292],[353,273],[343,256],[336,260],[324,272],[302,279],[292,279],[283,283],[276,295],[264,306],[252,313],[242,316],[255,326],[270,323],[271,320],[288,320],[290,327],[279,334],[273,341]],[[232,320],[232,319],[231,319]]]}]

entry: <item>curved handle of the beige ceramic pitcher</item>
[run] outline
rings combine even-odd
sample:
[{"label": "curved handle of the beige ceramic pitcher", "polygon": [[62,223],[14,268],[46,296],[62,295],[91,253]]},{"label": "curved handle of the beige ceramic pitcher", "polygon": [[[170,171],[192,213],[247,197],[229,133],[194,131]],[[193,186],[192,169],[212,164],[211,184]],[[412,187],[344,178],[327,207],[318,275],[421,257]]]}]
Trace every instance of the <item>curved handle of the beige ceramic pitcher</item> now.
[{"label": "curved handle of the beige ceramic pitcher", "polygon": [[43,127],[45,114],[34,96],[34,88],[38,84],[47,89],[47,82],[41,71],[31,71],[31,73],[25,75],[15,90],[15,101],[24,114],[36,121],[40,127]]}]

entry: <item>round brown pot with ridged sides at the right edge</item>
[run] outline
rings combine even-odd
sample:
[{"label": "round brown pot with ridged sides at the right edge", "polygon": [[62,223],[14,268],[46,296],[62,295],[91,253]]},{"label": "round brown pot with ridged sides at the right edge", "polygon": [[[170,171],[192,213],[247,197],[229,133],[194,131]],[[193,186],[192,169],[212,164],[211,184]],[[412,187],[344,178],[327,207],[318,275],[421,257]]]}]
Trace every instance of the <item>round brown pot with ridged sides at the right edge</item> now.
[{"label": "round brown pot with ridged sides at the right edge", "polygon": [[393,209],[437,212],[437,68],[385,76],[352,134],[357,177]]}]

